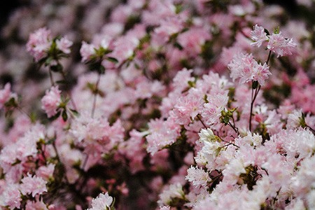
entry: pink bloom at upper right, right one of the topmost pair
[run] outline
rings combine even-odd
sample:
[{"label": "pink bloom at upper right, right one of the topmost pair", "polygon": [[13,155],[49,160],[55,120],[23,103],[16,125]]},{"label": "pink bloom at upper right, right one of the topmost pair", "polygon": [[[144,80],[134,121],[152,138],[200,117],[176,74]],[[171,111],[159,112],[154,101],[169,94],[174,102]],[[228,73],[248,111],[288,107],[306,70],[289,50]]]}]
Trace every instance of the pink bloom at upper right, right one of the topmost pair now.
[{"label": "pink bloom at upper right, right one of the topmost pair", "polygon": [[279,34],[272,34],[269,36],[269,41],[267,48],[276,53],[276,57],[281,57],[283,55],[292,55],[296,51],[296,43],[292,38],[284,38],[279,32]]}]

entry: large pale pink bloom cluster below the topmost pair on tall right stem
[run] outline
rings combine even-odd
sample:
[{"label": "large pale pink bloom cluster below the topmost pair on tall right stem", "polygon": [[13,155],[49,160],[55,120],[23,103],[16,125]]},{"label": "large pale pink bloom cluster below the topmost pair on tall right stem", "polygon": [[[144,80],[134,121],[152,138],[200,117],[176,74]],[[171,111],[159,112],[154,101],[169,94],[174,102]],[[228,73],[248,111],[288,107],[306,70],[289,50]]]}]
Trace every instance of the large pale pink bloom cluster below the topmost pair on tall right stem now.
[{"label": "large pale pink bloom cluster below the topmost pair on tall right stem", "polygon": [[239,78],[239,83],[258,81],[260,85],[265,85],[265,80],[272,74],[269,66],[266,63],[258,64],[252,54],[235,55],[228,64],[228,69],[231,71],[233,81]]}]

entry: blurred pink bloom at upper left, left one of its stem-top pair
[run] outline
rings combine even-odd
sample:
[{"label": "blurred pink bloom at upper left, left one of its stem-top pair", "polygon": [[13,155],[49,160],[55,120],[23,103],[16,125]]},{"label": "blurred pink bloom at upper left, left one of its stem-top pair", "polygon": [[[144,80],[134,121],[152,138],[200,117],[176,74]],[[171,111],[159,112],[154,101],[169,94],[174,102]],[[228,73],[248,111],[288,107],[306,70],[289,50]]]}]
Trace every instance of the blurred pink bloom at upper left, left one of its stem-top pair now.
[{"label": "blurred pink bloom at upper left, left one of its stem-top pair", "polygon": [[47,55],[47,51],[52,43],[51,32],[45,27],[36,30],[29,35],[27,41],[27,51],[34,57],[36,62]]}]

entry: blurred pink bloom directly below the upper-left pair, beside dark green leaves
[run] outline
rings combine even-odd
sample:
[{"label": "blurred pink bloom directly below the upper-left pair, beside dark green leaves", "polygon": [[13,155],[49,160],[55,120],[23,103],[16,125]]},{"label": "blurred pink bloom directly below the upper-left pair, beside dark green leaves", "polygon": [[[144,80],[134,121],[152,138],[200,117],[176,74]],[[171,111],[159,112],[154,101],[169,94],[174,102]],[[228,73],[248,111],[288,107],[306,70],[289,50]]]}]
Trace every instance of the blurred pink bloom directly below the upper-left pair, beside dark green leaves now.
[{"label": "blurred pink bloom directly below the upper-left pair, beside dark green leaves", "polygon": [[43,109],[48,118],[50,118],[55,116],[61,102],[61,91],[59,90],[59,87],[51,87],[50,90],[46,90],[45,96],[41,99],[41,109]]}]

